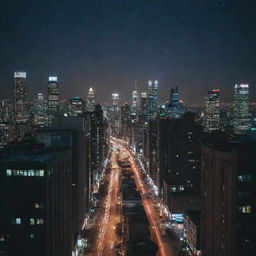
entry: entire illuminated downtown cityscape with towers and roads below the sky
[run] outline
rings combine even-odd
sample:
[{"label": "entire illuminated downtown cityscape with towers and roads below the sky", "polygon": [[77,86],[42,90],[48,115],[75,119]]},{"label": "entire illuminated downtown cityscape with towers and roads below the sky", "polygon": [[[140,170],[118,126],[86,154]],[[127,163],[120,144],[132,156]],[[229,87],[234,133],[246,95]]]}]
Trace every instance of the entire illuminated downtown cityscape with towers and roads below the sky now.
[{"label": "entire illuminated downtown cityscape with towers and roads below the sky", "polygon": [[26,72],[0,102],[0,256],[243,256],[256,250],[256,109],[249,85],[204,106],[159,101],[159,83],[109,106],[28,100]]}]

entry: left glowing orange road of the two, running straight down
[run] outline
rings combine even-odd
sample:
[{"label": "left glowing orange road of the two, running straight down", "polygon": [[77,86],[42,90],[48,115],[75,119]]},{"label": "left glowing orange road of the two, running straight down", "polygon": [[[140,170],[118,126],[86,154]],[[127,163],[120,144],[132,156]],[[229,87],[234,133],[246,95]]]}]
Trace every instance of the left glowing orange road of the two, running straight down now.
[{"label": "left glowing orange road of the two, running straight down", "polygon": [[105,203],[103,205],[103,216],[100,220],[100,231],[96,243],[94,256],[114,256],[116,255],[115,245],[118,237],[115,232],[117,223],[120,223],[120,167],[117,164],[117,151],[113,150],[111,156],[111,173],[109,177],[109,187]]}]

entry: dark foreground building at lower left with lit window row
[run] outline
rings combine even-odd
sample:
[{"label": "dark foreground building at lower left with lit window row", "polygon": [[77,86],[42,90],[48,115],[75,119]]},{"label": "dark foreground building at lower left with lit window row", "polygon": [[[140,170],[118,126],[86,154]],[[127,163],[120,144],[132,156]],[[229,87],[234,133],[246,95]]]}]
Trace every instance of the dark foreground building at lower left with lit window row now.
[{"label": "dark foreground building at lower left with lit window row", "polygon": [[0,156],[0,254],[71,255],[70,150],[15,144]]}]

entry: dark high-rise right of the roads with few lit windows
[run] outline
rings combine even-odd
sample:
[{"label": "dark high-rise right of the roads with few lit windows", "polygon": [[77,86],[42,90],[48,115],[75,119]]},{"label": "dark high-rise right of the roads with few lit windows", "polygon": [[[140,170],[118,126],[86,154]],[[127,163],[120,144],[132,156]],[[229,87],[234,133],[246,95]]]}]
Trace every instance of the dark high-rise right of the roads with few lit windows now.
[{"label": "dark high-rise right of the roads with few lit windows", "polygon": [[191,112],[158,120],[160,188],[172,212],[200,208],[200,136]]}]

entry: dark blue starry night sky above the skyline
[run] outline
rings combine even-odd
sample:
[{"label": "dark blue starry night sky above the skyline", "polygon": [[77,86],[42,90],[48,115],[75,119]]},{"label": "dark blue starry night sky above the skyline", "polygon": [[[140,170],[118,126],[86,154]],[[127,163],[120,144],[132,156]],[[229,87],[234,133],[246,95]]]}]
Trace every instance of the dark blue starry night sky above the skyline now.
[{"label": "dark blue starry night sky above the skyline", "polygon": [[49,75],[62,97],[97,101],[119,92],[129,100],[137,80],[144,91],[158,79],[201,103],[220,88],[231,101],[234,83],[256,95],[255,0],[1,0],[0,87],[11,97],[13,72],[26,71],[30,98],[46,92]]}]

